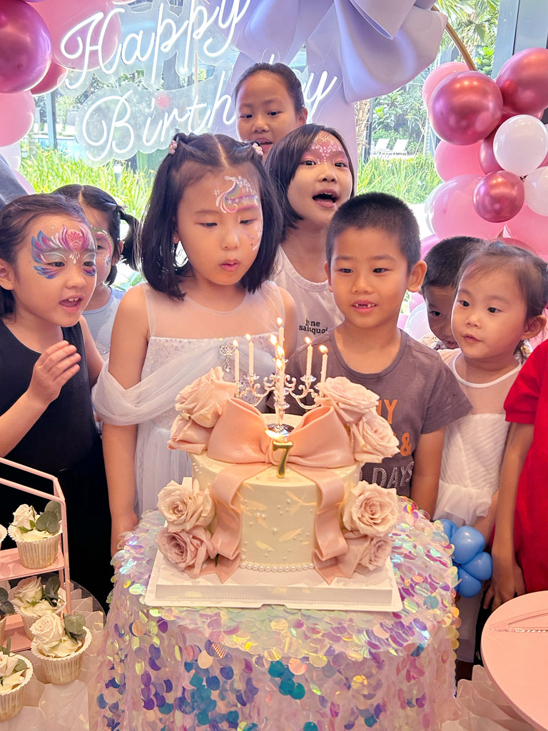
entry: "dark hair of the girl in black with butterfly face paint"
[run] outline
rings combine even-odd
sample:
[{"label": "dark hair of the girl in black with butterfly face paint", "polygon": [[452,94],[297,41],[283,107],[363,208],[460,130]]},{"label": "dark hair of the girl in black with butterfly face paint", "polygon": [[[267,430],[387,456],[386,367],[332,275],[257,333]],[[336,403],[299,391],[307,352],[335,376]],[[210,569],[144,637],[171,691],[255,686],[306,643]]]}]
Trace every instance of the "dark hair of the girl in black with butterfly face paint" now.
[{"label": "dark hair of the girl in black with butterfly face paint", "polygon": [[[35,193],[14,198],[0,211],[0,259],[15,266],[28,227],[41,216],[69,216],[89,226],[82,207],[58,193]],[[9,289],[0,287],[0,317],[12,314],[15,300]]]}]

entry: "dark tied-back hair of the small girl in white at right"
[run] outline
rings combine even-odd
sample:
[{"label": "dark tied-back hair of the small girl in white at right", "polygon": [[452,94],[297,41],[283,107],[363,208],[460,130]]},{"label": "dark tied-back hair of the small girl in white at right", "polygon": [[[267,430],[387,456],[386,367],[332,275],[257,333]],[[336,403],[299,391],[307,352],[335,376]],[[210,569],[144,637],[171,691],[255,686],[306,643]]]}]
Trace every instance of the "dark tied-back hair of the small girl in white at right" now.
[{"label": "dark tied-back hair of the small girl in white at right", "polygon": [[533,251],[510,246],[503,241],[490,241],[473,249],[460,268],[463,276],[488,275],[505,269],[512,273],[527,306],[525,319],[539,317],[548,303],[548,265]]}]

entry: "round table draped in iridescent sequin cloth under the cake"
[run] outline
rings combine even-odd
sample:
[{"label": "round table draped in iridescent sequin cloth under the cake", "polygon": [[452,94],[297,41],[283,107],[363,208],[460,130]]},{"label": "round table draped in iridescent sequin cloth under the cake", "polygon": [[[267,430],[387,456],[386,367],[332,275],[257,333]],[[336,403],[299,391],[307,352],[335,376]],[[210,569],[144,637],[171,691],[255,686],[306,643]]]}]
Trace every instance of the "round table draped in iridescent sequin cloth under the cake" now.
[{"label": "round table draped in iridescent sequin cloth under the cake", "polygon": [[454,692],[456,569],[439,523],[400,499],[392,565],[403,610],[149,607],[164,523],[115,556],[91,729],[437,729]]}]

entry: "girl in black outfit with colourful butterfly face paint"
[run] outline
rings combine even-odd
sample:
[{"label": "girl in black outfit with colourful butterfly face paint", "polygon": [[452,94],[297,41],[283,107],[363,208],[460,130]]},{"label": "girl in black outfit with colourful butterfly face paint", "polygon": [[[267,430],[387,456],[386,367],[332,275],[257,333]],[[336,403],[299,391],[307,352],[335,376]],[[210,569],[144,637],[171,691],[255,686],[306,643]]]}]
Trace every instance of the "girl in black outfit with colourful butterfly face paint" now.
[{"label": "girl in black outfit with colourful butterfly face paint", "polygon": [[[95,287],[95,260],[93,235],[75,201],[28,195],[1,211],[0,455],[58,477],[72,577],[104,602],[110,515],[91,407],[102,359],[82,317]],[[1,474],[52,490],[50,481],[5,465]],[[0,494],[0,523],[6,525],[28,496],[4,485]]]}]

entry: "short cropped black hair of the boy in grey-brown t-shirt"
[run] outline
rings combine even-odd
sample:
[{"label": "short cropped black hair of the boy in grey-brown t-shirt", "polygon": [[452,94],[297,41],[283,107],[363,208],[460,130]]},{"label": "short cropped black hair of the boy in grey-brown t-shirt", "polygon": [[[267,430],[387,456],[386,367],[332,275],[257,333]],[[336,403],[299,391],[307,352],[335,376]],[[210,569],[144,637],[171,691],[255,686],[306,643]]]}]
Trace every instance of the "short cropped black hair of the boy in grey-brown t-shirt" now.
[{"label": "short cropped black hair of the boy in grey-brown t-shirt", "polygon": [[331,264],[335,239],[349,228],[378,228],[397,236],[400,251],[407,260],[408,272],[420,260],[419,224],[411,208],[395,195],[363,193],[340,206],[327,230],[325,253],[328,266]]}]

